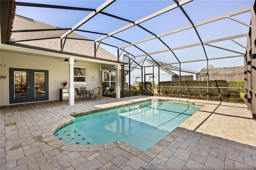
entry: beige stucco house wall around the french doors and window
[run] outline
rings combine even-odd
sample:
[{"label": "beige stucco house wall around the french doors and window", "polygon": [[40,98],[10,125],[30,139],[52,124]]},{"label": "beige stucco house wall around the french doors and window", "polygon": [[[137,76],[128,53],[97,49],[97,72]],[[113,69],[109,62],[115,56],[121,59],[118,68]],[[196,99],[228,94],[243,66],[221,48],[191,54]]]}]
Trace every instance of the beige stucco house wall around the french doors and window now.
[{"label": "beige stucco house wall around the french doors and window", "polygon": [[[63,88],[62,83],[68,81],[68,63],[58,62],[60,60],[45,57],[44,55],[23,53],[20,51],[7,51],[0,52],[0,63],[6,65],[0,68],[0,75],[6,76],[6,79],[0,79],[0,105],[9,104],[9,68],[22,68],[22,69],[41,69],[48,70],[49,73],[49,101],[60,99],[60,88]],[[86,67],[87,70],[87,83],[75,84],[74,88],[86,87],[93,89],[100,86],[100,64],[75,62],[74,67]],[[96,77],[96,81],[92,81],[92,77]],[[57,82],[55,82],[57,80]],[[69,84],[66,88],[69,87]],[[75,93],[76,97],[76,93]]]}]

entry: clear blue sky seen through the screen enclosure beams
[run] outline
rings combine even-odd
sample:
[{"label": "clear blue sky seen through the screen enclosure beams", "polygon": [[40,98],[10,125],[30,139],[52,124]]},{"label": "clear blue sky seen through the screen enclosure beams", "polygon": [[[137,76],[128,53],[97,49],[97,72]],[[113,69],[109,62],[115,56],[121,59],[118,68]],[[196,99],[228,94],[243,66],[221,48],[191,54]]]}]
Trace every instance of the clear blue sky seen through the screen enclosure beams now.
[{"label": "clear blue sky seen through the screen enclosure beams", "polygon": [[[16,0],[16,2],[30,2],[38,4],[51,4],[96,9],[105,1]],[[117,0],[116,2],[112,3],[108,8],[104,9],[103,12],[125,18],[128,21],[119,20],[103,14],[97,14],[94,18],[92,18],[92,20],[89,20],[78,29],[109,34],[115,30],[118,30],[119,28],[130,24],[129,21],[136,22],[172,4],[174,4],[174,1],[172,0]],[[253,4],[254,0],[194,0],[192,2],[182,5],[182,8],[188,14],[192,22],[196,24],[210,18],[214,18],[249,6],[253,6]],[[60,28],[72,28],[90,13],[90,11],[78,10],[63,10],[26,6],[16,7],[16,14],[18,15],[25,16],[33,20],[44,22],[46,24],[50,24]],[[250,24],[250,11],[232,17],[247,24]],[[166,32],[189,25],[190,21],[186,18],[182,10],[180,8],[175,8],[160,16],[156,16],[150,20],[140,23],[140,26],[142,28],[140,26],[133,26],[122,32],[114,34],[116,38],[125,40],[125,42],[111,37],[103,39],[102,42],[114,45],[116,47],[120,47],[126,45],[127,42],[135,43],[139,40],[144,40],[154,35],[160,36],[161,34],[164,34]],[[148,30],[152,34],[143,30],[143,28]],[[202,42],[206,42],[239,34],[247,34],[249,31],[249,27],[229,18],[224,18],[222,20],[197,26],[196,30],[200,35]],[[91,34],[77,31],[75,31],[75,33],[85,36],[90,40],[95,40],[102,37],[102,35],[100,34]],[[160,36],[160,39],[171,49],[182,47],[184,45],[200,43],[200,39],[198,38],[198,35],[196,34],[194,28],[175,32],[173,34],[165,36]],[[222,42],[211,43],[210,45],[215,45],[222,48],[228,48],[234,51],[245,53],[246,49],[238,45],[238,43],[246,46],[246,38],[236,38],[234,39],[234,41],[226,40]],[[139,49],[134,46],[125,47],[125,51],[135,56],[145,53],[162,51],[168,49],[166,45],[164,45],[164,43],[162,43],[158,39],[153,39],[146,42],[137,43],[136,47],[138,47]],[[104,44],[101,44],[100,46],[117,56],[116,47],[111,47]],[[204,48],[206,50],[206,55],[208,59],[240,55],[240,53],[219,49],[209,45],[204,45]],[[122,54],[124,53],[126,52],[123,52]],[[154,55],[150,55],[147,58],[151,59],[150,57],[152,57],[154,60],[161,61],[163,63],[178,63],[178,60],[174,55],[176,55],[180,62],[206,59],[206,55],[204,53],[202,45],[186,49],[177,49],[174,50],[173,53],[171,51],[157,53]],[[138,62],[143,57],[137,57],[135,61]],[[208,64],[212,64],[214,65],[214,67],[244,65],[244,59],[243,57],[235,57],[230,59],[209,60]],[[179,66],[178,64],[173,65]],[[200,69],[205,66],[206,61],[182,63],[181,65],[182,69],[187,69],[191,71],[200,71]]]}]

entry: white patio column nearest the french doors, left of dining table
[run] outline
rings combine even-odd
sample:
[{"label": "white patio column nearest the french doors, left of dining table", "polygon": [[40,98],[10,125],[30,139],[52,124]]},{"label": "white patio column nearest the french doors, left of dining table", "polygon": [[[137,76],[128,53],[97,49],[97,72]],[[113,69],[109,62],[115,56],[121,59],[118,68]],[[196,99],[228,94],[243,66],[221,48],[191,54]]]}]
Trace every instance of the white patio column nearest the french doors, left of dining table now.
[{"label": "white patio column nearest the french doors, left of dining table", "polygon": [[68,105],[75,104],[75,92],[74,92],[74,58],[69,58],[68,61],[68,77],[69,77],[69,96]]}]

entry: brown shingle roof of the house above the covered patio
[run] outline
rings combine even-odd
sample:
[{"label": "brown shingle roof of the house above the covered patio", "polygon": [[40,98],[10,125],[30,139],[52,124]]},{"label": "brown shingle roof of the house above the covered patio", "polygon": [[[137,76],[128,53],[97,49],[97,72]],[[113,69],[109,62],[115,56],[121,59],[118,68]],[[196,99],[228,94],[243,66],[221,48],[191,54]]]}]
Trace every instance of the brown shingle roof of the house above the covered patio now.
[{"label": "brown shingle roof of the house above the covered patio", "polygon": [[[17,30],[42,30],[37,32],[15,32]],[[60,36],[63,35],[66,30],[52,30],[43,31],[45,29],[58,29],[55,26],[51,26],[42,22],[32,20],[23,16],[16,15],[14,19],[11,40],[15,43],[22,45],[29,45],[32,47],[40,47],[44,49],[50,49],[60,51]],[[51,39],[44,39],[51,38]],[[76,40],[71,39],[76,38]],[[77,40],[80,39],[80,40]],[[26,40],[26,41],[24,41]],[[97,48],[97,47],[96,47]],[[87,57],[94,57],[94,42],[88,41],[84,36],[80,36],[74,32],[68,35],[64,45],[63,52],[74,53]],[[96,52],[96,58],[106,59],[110,61],[116,61],[117,57],[109,51],[99,47]],[[120,60],[122,62],[122,60]]]}]

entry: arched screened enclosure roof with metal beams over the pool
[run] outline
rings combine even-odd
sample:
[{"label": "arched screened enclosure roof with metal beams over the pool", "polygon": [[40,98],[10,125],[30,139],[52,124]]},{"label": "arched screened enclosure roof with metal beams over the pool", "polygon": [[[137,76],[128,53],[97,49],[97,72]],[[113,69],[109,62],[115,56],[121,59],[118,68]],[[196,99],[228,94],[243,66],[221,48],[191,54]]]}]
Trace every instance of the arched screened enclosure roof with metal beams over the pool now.
[{"label": "arched screened enclosure roof with metal beams over the pool", "polygon": [[[200,71],[206,60],[215,66],[243,64],[254,0],[16,0],[14,4],[16,14],[56,28],[12,30],[13,35],[44,31],[45,36],[26,41],[16,38],[7,42],[11,45],[50,41],[56,37],[47,32],[62,30],[58,51],[70,39],[77,40],[75,45],[81,49],[86,47],[79,41],[90,41],[96,46],[90,48],[92,56],[100,45],[117,62],[127,62],[123,55],[128,54],[133,65],[146,57]],[[221,65],[214,63],[217,58],[223,59]],[[190,61],[197,62],[198,68],[186,67]]]}]

